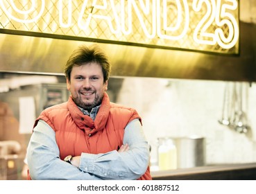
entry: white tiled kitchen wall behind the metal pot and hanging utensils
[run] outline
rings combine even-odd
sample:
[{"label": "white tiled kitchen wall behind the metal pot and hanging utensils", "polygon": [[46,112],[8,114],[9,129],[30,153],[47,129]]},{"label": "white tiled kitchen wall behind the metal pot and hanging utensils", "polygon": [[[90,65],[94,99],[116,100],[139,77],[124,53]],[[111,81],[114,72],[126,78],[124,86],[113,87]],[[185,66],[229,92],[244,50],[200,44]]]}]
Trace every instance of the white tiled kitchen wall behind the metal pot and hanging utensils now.
[{"label": "white tiled kitchen wall behind the metal pot and hanging utensils", "polygon": [[[241,134],[221,125],[227,82],[125,78],[117,103],[135,107],[151,145],[161,136],[204,136],[207,164],[256,161],[256,85],[248,89],[248,125]],[[244,83],[246,84],[246,83]],[[151,152],[151,158],[155,152]]]}]

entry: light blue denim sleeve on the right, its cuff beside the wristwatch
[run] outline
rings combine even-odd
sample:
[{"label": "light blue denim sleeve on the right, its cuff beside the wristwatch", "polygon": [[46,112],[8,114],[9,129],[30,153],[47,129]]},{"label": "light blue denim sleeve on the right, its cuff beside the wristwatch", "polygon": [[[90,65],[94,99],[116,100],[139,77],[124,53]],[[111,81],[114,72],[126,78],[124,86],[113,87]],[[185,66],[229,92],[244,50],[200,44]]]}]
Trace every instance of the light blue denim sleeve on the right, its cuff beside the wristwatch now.
[{"label": "light blue denim sleeve on the right, its cuff beside the wristwatch", "polygon": [[129,145],[126,152],[113,150],[98,155],[83,153],[80,170],[103,179],[138,179],[144,175],[149,163],[148,142],[138,119],[126,126],[123,143]]}]

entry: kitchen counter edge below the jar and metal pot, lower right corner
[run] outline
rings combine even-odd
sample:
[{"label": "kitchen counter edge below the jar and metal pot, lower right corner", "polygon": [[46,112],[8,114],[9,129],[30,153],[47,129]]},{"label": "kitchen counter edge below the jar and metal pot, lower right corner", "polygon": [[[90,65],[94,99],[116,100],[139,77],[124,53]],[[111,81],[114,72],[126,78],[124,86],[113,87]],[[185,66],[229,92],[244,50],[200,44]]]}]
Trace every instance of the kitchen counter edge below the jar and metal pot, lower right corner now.
[{"label": "kitchen counter edge below the jar and metal pot, lower right corner", "polygon": [[256,180],[256,163],[152,171],[153,180]]}]

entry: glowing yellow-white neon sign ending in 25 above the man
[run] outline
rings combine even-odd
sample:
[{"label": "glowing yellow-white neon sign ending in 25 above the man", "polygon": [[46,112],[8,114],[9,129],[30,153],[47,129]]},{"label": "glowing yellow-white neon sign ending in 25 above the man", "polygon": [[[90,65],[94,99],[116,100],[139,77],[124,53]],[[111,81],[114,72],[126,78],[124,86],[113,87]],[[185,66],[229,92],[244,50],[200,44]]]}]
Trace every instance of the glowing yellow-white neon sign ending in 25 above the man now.
[{"label": "glowing yellow-white neon sign ending in 25 above the man", "polygon": [[238,0],[0,0],[0,28],[236,54]]}]

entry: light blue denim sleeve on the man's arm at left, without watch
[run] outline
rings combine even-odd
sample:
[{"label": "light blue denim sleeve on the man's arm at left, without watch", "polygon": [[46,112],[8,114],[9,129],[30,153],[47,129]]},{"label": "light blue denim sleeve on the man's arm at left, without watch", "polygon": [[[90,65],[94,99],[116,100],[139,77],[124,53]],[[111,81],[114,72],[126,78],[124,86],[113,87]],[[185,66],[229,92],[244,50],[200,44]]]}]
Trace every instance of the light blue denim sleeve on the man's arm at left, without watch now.
[{"label": "light blue denim sleeve on the man's arm at left, without watch", "polygon": [[26,158],[32,179],[101,179],[62,161],[55,132],[47,123],[41,120],[33,130],[31,140],[28,143]]}]

